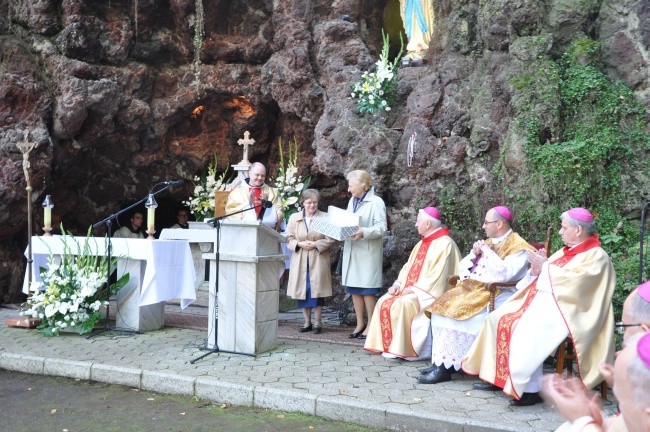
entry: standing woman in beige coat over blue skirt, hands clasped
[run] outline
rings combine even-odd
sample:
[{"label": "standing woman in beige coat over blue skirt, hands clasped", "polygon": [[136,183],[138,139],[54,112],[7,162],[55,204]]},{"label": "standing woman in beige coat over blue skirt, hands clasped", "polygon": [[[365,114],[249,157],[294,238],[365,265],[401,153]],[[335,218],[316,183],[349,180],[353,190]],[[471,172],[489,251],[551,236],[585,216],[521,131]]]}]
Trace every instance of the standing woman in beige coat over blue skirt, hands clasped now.
[{"label": "standing woman in beige coat over blue skirt, hands clasped", "polygon": [[[287,225],[287,245],[293,251],[289,266],[287,295],[298,300],[305,324],[300,333],[314,330],[321,333],[321,314],[325,297],[332,295],[332,273],[330,269],[330,246],[335,240],[311,230],[314,217],[326,216],[318,210],[320,194],[316,189],[302,193],[302,212],[294,213]],[[314,309],[314,326],[311,324],[311,310]]]}]

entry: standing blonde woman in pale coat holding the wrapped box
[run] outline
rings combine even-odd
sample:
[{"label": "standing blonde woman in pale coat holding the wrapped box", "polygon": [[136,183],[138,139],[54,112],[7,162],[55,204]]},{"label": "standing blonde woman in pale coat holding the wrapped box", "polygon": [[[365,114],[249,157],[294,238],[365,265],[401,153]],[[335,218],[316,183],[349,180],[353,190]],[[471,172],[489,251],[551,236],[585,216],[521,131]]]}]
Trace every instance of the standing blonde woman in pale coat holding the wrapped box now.
[{"label": "standing blonde woman in pale coat holding the wrapped box", "polygon": [[[346,176],[352,195],[347,210],[359,217],[359,229],[343,245],[341,283],[352,295],[357,325],[350,338],[366,338],[366,323],[372,320],[377,294],[382,287],[382,264],[386,233],[386,205],[375,195],[367,171],[354,170]],[[368,321],[364,321],[364,311]]]}]

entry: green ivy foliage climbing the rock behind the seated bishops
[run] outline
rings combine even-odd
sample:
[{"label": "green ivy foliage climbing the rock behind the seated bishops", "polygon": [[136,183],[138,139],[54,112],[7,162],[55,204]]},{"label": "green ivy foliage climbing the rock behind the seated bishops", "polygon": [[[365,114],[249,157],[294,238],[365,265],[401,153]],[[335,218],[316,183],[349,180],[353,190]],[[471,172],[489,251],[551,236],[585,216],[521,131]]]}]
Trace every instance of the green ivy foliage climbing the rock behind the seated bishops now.
[{"label": "green ivy foliage climbing the rock behind the seated bishops", "polygon": [[[601,242],[616,268],[620,314],[622,300],[638,279],[639,234],[636,222],[624,216],[637,200],[629,177],[648,172],[650,137],[642,105],[629,88],[598,69],[598,52],[597,42],[582,39],[557,62],[557,94],[546,95],[547,101],[555,97],[557,126],[535,109],[543,100],[537,83],[552,81],[552,75],[534,71],[511,80],[513,100],[519,101],[514,124],[525,135],[530,181],[525,195],[516,186],[503,190],[528,238],[547,225],[557,232],[558,217],[567,208],[587,207],[597,215]],[[558,236],[553,246],[561,246]]]}]

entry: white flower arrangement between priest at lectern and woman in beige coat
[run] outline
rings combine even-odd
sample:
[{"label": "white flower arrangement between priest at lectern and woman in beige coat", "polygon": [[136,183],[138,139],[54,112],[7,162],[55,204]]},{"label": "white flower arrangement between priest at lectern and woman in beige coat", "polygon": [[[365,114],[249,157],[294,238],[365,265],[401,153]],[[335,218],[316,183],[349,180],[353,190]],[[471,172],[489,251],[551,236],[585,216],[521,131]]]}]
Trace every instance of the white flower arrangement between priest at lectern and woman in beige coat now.
[{"label": "white flower arrangement between priest at lectern and woman in beige coat", "polygon": [[291,141],[289,142],[286,163],[281,138],[278,138],[278,147],[280,148],[280,166],[274,183],[278,189],[284,218],[289,220],[289,216],[300,210],[300,194],[304,188],[309,186],[311,176],[307,175],[303,178],[298,175],[298,140],[294,138],[293,145]]}]

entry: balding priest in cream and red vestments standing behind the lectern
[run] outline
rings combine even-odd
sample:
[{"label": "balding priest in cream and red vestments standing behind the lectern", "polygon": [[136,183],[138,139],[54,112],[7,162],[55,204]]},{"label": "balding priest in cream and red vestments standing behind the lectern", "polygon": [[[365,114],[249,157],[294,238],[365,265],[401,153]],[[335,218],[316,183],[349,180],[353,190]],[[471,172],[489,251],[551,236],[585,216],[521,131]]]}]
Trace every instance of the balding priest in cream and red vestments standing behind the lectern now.
[{"label": "balding priest in cream and red vestments standing behind the lectern", "polygon": [[[283,221],[284,214],[281,210],[282,206],[277,189],[264,184],[266,180],[266,167],[260,162],[254,162],[248,173],[249,177],[228,194],[226,214],[235,213],[255,206],[259,207],[255,210],[244,211],[229,216],[229,219],[262,220],[263,218],[268,218],[266,213],[275,211],[276,221]],[[262,201],[270,201],[273,204],[271,210],[262,207]]]}]

